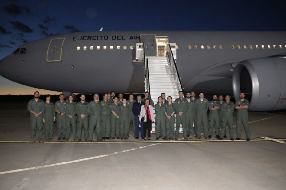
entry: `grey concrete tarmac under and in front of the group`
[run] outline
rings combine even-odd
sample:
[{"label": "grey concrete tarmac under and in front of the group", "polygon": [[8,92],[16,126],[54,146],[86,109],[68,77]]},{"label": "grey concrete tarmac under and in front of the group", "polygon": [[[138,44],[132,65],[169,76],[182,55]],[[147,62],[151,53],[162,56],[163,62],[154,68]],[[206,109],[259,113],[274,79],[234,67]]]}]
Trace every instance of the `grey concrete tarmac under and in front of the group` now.
[{"label": "grey concrete tarmac under and in front of the group", "polygon": [[242,127],[240,141],[228,129],[220,141],[143,141],[131,129],[128,140],[65,142],[54,132],[30,144],[27,102],[1,102],[0,189],[285,189],[286,112],[248,116],[250,142]]}]

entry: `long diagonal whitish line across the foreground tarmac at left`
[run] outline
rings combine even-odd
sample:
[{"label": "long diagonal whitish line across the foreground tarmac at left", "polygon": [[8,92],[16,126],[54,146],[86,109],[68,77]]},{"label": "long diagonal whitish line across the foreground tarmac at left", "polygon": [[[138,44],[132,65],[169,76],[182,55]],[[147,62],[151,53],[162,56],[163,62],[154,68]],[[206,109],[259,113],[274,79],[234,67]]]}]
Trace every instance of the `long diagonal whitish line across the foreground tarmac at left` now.
[{"label": "long diagonal whitish line across the foreground tarmac at left", "polygon": [[142,149],[142,148],[147,148],[147,147],[154,146],[154,145],[159,145],[159,144],[161,144],[161,143],[155,143],[155,144],[150,144],[150,145],[146,145],[146,146],[140,146],[138,148],[132,148],[132,149],[128,149],[128,150],[122,150],[122,151],[119,151],[119,152],[114,152],[112,154],[103,154],[103,155],[99,155],[99,156],[93,156],[93,157],[89,157],[89,158],[82,158],[82,159],[72,160],[72,161],[68,161],[68,162],[59,162],[59,163],[55,163],[55,164],[41,165],[41,166],[30,167],[30,168],[14,169],[14,170],[0,172],[0,174],[22,172],[22,171],[26,171],[26,170],[39,169],[39,168],[48,168],[48,167],[57,166],[57,165],[71,164],[71,163],[75,163],[75,162],[82,162],[82,161],[86,161],[86,160],[92,160],[92,159],[96,159],[96,158],[102,158],[102,157],[106,157],[106,156],[111,156],[111,155],[115,155],[115,154],[119,154],[119,153],[130,152],[130,151],[133,151],[133,150],[139,150],[139,149]]}]

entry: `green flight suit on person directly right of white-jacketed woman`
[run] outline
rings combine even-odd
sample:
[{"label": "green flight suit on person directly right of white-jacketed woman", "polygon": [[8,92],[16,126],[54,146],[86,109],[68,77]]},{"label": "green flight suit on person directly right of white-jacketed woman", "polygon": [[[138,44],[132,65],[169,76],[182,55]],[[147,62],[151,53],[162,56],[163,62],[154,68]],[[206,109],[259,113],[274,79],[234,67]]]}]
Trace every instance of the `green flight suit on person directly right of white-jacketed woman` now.
[{"label": "green flight suit on person directly right of white-jacketed woman", "polygon": [[155,135],[157,138],[159,138],[159,136],[162,136],[163,138],[166,137],[166,109],[165,109],[165,104],[155,104],[155,113],[156,113],[156,117],[155,117]]}]

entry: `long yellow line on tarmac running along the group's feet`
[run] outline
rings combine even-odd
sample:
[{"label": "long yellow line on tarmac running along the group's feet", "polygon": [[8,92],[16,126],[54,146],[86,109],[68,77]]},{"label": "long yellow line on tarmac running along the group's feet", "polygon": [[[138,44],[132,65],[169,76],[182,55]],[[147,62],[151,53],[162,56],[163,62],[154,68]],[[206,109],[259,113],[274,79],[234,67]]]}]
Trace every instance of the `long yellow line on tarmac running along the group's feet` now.
[{"label": "long yellow line on tarmac running along the group's feet", "polygon": [[[262,137],[260,137],[262,138]],[[286,139],[277,139],[280,141],[286,141]],[[246,141],[246,140],[234,140],[237,141]],[[272,139],[251,139],[250,141],[272,141]],[[94,142],[85,142],[85,141],[52,141],[52,142],[44,142],[44,143],[194,143],[194,142],[233,142],[232,140],[153,140],[153,141],[94,141]],[[0,143],[30,143],[30,141],[0,141]],[[35,143],[39,143],[36,141]]]}]

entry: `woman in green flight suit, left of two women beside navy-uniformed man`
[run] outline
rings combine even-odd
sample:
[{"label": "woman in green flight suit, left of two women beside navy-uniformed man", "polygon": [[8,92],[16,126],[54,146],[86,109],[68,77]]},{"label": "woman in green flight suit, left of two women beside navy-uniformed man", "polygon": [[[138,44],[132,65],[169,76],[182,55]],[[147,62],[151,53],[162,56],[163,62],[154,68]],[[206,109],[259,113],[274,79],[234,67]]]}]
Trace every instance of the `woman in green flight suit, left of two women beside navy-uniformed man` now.
[{"label": "woman in green flight suit, left of two women beside navy-uniformed man", "polygon": [[118,98],[113,98],[113,103],[110,105],[110,124],[111,124],[111,130],[110,130],[110,136],[111,139],[120,139],[120,133],[119,133],[119,105],[118,105]]}]

